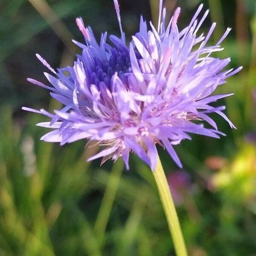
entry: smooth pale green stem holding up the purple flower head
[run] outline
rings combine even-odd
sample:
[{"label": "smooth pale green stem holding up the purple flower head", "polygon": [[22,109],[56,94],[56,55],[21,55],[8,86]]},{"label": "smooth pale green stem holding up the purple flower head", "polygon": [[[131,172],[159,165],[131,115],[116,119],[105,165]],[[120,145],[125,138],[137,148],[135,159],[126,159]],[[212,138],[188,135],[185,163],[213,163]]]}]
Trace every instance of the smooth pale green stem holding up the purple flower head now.
[{"label": "smooth pale green stem holding up the purple flower head", "polygon": [[157,159],[157,167],[155,171],[153,171],[153,175],[157,183],[157,189],[163,204],[164,212],[166,214],[166,219],[170,233],[172,235],[176,255],[187,256],[186,245],[184,243],[183,235],[181,232],[179,219],[159,157]]}]

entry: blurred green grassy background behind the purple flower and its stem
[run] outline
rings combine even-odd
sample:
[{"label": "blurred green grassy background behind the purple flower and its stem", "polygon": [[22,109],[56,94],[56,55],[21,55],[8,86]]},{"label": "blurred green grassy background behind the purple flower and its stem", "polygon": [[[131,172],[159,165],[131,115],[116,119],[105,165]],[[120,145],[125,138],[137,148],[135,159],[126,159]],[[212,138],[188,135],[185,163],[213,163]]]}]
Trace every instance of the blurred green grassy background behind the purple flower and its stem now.
[{"label": "blurred green grassy background behind the purple flower and its stem", "polygon": [[[136,32],[140,14],[146,20],[152,14],[152,20],[157,20],[156,2],[119,0],[128,38]],[[181,6],[182,27],[199,2],[212,11],[202,32],[211,21],[218,23],[212,40],[218,40],[226,26],[233,27],[218,57],[231,56],[232,67],[244,69],[218,93],[235,93],[222,103],[237,130],[230,131],[214,116],[227,137],[193,136],[178,145],[191,184],[170,186],[181,193],[177,210],[189,255],[253,256],[256,4],[255,0],[166,0],[167,15]],[[20,111],[22,105],[56,107],[47,92],[28,85],[26,77],[43,79],[44,67],[35,52],[53,67],[72,64],[77,49],[69,39],[82,38],[77,16],[93,27],[97,38],[105,30],[119,35],[112,0],[0,2],[0,256],[174,255],[148,167],[134,156],[129,172],[123,171],[122,161],[102,167],[96,161],[86,163],[96,147],[84,151],[82,141],[63,147],[41,142],[45,131],[35,124],[44,117]],[[179,170],[163,149],[159,151],[166,174],[174,177]],[[177,183],[177,176],[174,180]]]}]

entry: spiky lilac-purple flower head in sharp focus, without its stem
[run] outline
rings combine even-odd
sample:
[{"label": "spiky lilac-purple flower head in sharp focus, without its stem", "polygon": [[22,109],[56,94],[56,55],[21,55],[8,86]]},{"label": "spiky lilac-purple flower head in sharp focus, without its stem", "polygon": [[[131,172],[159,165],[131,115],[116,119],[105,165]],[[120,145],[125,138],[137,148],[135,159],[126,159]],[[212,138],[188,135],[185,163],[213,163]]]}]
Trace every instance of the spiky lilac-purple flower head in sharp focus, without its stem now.
[{"label": "spiky lilac-purple flower head in sharp focus, without its stem", "polygon": [[[225,107],[212,107],[209,103],[232,94],[210,96],[225,79],[241,70],[225,70],[230,58],[210,57],[221,51],[221,42],[230,32],[228,28],[217,44],[207,47],[215,23],[207,35],[197,36],[198,29],[208,15],[197,20],[203,8],[198,7],[189,25],[179,32],[177,8],[169,24],[166,9],[160,0],[159,21],[150,29],[141,17],[140,30],[125,44],[120,10],[114,0],[121,38],[107,33],[98,44],[90,27],[86,28],[81,18],[76,23],[84,35],[85,44],[74,41],[82,49],[73,67],[54,70],[40,55],[39,60],[53,73],[44,73],[52,86],[34,79],[33,84],[44,87],[50,95],[64,105],[54,114],[23,108],[27,111],[49,116],[51,122],[38,126],[52,128],[41,140],[47,142],[72,143],[87,139],[105,146],[105,149],[90,157],[88,161],[103,157],[116,160],[122,157],[129,169],[129,154],[134,151],[154,170],[157,163],[156,144],[169,152],[179,167],[182,164],[173,148],[184,139],[191,140],[188,133],[219,138],[216,123],[207,115],[218,113],[231,127],[232,122],[222,112]],[[65,72],[68,75],[65,75]],[[206,121],[212,128],[205,128]]]}]

